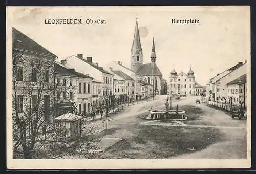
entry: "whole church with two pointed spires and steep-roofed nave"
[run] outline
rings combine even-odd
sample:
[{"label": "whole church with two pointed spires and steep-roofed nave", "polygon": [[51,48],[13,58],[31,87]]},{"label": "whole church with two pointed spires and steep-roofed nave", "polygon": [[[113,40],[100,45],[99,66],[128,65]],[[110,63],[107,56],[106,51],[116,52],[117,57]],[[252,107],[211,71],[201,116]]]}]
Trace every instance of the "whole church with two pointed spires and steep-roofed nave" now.
[{"label": "whole church with two pointed spires and steep-roofed nave", "polygon": [[153,92],[161,91],[162,73],[156,64],[155,40],[153,37],[151,62],[143,64],[143,52],[140,42],[138,21],[136,19],[135,33],[131,50],[131,70],[141,76],[141,80],[153,86]]}]

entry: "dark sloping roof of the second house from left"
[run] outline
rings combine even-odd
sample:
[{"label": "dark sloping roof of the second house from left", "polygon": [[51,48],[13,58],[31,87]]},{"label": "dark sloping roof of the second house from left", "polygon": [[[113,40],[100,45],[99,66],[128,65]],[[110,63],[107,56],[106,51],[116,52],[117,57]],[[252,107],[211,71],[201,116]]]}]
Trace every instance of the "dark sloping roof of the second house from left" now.
[{"label": "dark sloping roof of the second house from left", "polygon": [[65,75],[65,76],[73,76],[73,77],[82,77],[82,78],[92,78],[88,75],[84,75],[82,73],[78,73],[76,71],[70,70],[64,66],[61,66],[58,63],[54,63],[54,73],[57,75]]}]

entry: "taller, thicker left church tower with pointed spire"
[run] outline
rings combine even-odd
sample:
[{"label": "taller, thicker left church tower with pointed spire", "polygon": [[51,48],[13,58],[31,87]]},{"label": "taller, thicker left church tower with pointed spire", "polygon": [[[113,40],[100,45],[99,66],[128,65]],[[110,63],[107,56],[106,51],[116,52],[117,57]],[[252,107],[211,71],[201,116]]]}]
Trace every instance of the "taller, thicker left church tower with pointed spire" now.
[{"label": "taller, thicker left church tower with pointed spire", "polygon": [[131,70],[136,72],[138,68],[143,64],[143,53],[140,44],[140,34],[138,21],[136,18],[135,33],[133,38],[133,45],[131,50]]}]

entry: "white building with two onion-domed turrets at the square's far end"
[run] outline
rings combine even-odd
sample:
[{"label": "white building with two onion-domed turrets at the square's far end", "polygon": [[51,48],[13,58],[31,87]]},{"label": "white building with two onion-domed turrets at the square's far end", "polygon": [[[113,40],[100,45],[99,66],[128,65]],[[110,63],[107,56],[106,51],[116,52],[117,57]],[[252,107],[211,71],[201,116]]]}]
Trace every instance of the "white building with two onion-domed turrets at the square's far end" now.
[{"label": "white building with two onion-domed turrets at the square's far end", "polygon": [[172,95],[195,95],[195,76],[191,70],[187,74],[175,70],[170,73],[170,93]]}]

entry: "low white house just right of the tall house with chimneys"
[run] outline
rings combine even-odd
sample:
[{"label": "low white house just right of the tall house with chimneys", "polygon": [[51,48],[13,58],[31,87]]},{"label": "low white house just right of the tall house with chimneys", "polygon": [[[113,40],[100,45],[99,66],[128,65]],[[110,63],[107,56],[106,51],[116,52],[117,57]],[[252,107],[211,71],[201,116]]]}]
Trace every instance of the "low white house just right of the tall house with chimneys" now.
[{"label": "low white house just right of the tall house with chimneys", "polygon": [[115,98],[117,99],[117,101],[121,100],[122,102],[126,102],[127,101],[126,80],[115,73],[114,73],[113,79],[114,79],[113,89],[114,89]]}]

